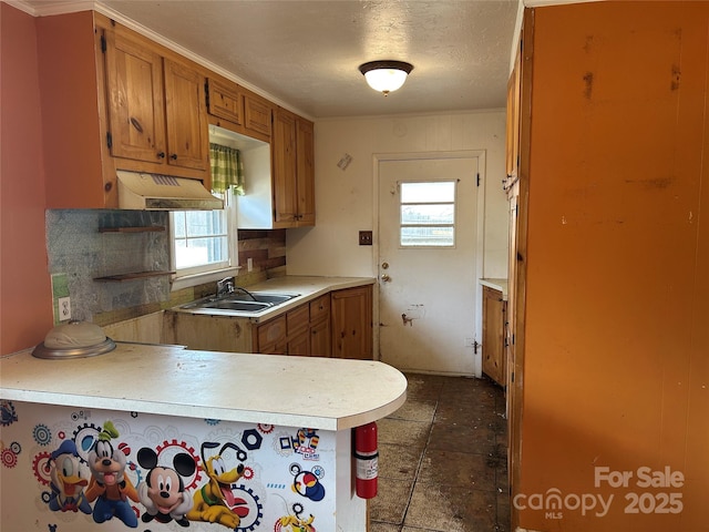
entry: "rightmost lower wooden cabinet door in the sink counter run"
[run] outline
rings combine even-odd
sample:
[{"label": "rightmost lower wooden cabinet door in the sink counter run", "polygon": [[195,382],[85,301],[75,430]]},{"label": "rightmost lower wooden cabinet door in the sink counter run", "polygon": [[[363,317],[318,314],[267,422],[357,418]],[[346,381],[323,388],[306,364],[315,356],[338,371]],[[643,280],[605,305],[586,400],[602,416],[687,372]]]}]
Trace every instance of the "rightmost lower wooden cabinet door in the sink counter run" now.
[{"label": "rightmost lower wooden cabinet door in the sink counter run", "polygon": [[372,358],[372,288],[346,288],[331,294],[332,356]]}]

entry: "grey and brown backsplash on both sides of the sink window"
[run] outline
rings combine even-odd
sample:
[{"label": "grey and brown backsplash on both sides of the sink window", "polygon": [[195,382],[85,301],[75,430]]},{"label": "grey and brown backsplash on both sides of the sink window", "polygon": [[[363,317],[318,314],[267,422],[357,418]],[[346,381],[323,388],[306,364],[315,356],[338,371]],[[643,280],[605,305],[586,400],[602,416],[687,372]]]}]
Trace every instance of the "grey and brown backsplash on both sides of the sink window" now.
[{"label": "grey and brown backsplash on both sides of the sink window", "polygon": [[[99,277],[169,270],[169,215],[150,211],[47,211],[49,274],[65,274],[73,319],[105,326],[186,303],[214,283],[171,291],[171,277],[100,282]],[[162,232],[101,233],[106,227],[165,227]],[[286,232],[239,231],[239,286],[286,275]],[[246,262],[251,258],[253,270]]]}]

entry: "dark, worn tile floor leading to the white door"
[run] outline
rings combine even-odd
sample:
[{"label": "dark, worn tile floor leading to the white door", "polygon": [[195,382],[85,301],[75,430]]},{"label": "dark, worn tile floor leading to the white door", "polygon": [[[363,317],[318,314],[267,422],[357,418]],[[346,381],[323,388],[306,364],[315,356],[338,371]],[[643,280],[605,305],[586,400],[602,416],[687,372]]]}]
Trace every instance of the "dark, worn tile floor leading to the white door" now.
[{"label": "dark, worn tile floor leading to the white door", "polygon": [[486,378],[407,379],[407,402],[378,422],[370,532],[508,531],[502,388]]}]

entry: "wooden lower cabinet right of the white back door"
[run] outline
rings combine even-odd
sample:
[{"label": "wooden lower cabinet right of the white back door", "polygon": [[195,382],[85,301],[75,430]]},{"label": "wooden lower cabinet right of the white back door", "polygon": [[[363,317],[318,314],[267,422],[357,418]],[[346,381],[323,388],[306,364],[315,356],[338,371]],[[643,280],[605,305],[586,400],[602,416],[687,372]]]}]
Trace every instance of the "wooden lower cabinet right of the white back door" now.
[{"label": "wooden lower cabinet right of the white back door", "polygon": [[505,321],[507,301],[502,291],[483,287],[483,372],[501,386],[506,385]]}]

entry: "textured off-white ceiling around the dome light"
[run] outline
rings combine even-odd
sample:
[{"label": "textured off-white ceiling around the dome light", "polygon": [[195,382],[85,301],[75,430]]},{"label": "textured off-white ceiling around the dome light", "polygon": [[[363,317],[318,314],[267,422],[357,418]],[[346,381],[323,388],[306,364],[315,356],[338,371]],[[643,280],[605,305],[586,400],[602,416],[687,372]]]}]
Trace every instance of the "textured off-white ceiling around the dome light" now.
[{"label": "textured off-white ceiling around the dome light", "polygon": [[[38,11],[45,6],[25,3]],[[315,119],[503,108],[517,6],[518,0],[99,2]],[[381,59],[414,66],[404,86],[387,98],[358,71]]]}]

